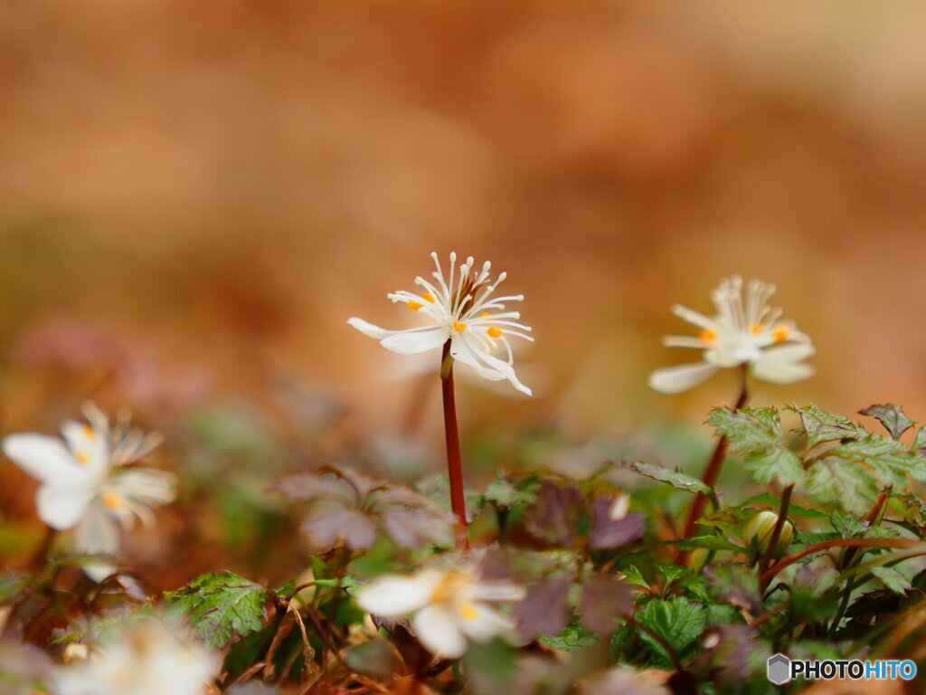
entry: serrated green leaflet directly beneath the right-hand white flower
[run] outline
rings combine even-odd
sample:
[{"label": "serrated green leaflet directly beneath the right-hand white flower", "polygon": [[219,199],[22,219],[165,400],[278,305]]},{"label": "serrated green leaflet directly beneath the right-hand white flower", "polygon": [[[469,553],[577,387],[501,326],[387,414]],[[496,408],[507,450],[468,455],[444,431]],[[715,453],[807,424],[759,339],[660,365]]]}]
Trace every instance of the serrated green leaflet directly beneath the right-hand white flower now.
[{"label": "serrated green leaflet directly beneath the right-hand white flower", "polygon": [[717,408],[707,423],[728,438],[730,449],[743,457],[757,483],[778,480],[789,486],[803,480],[804,468],[783,442],[782,421],[774,408]]}]

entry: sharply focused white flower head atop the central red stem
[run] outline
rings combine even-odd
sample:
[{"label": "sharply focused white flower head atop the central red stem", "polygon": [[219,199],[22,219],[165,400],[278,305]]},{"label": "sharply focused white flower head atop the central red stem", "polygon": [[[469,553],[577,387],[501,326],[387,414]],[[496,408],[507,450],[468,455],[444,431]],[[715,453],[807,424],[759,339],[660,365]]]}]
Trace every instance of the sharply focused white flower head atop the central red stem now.
[{"label": "sharply focused white flower head atop the central red stem", "polygon": [[[409,310],[426,317],[428,325],[405,331],[387,331],[357,317],[347,322],[358,331],[380,341],[382,347],[402,355],[412,355],[442,347],[450,340],[450,354],[454,360],[468,364],[476,373],[490,381],[507,379],[519,391],[531,395],[531,389],[521,384],[515,375],[514,359],[509,336],[533,340],[529,326],[519,322],[518,311],[506,311],[506,302],[522,301],[523,295],[494,297],[495,288],[505,280],[499,274],[492,282],[489,271],[492,264],[485,261],[482,271],[473,271],[470,256],[459,267],[455,278],[457,254],[450,254],[450,273],[444,277],[437,254],[431,254],[437,271],[433,282],[415,278],[421,294],[400,290],[387,295],[394,302],[404,302]],[[491,353],[504,347],[507,359],[501,360]]]}]

